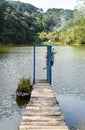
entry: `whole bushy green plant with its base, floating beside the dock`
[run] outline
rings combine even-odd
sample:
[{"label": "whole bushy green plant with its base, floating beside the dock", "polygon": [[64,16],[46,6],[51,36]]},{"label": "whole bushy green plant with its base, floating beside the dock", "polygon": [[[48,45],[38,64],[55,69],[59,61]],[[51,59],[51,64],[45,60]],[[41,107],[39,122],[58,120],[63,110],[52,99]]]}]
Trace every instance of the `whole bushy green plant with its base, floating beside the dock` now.
[{"label": "whole bushy green plant with its base, floating beside the dock", "polygon": [[18,88],[16,90],[17,96],[26,97],[30,96],[32,91],[32,85],[29,78],[21,78],[18,83]]}]

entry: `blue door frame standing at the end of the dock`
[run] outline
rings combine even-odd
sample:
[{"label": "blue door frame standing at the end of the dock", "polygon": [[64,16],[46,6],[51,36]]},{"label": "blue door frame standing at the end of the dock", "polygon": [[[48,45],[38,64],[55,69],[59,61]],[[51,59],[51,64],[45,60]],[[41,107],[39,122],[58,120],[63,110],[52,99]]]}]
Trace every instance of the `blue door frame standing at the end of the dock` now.
[{"label": "blue door frame standing at the end of the dock", "polygon": [[36,47],[47,47],[47,81],[51,84],[52,80],[52,46],[51,45],[42,45],[36,44],[34,45],[34,72],[33,72],[33,84],[35,84],[36,80]]}]

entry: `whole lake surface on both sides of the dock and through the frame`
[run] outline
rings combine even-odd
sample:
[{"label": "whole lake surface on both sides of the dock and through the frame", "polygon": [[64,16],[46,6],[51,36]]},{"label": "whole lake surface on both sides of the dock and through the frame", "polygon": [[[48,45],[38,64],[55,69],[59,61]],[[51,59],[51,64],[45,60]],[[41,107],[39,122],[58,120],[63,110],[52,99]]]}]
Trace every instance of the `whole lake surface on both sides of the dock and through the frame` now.
[{"label": "whole lake surface on both sides of the dock and through the frame", "polygon": [[[85,130],[85,46],[55,47],[52,87],[71,130]],[[46,48],[36,50],[36,78],[45,78]],[[0,52],[0,130],[18,130],[27,101],[16,98],[19,79],[33,79],[33,47]]]}]

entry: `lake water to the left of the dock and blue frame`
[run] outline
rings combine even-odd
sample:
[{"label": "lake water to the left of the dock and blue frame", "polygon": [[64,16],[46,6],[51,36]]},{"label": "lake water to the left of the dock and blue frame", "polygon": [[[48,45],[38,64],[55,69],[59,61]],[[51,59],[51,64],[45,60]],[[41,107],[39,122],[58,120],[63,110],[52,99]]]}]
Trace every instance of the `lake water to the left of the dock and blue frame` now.
[{"label": "lake water to the left of the dock and blue frame", "polygon": [[[0,129],[18,130],[27,101],[16,99],[19,79],[32,79],[33,49],[31,47],[9,50],[0,54]],[[16,102],[17,100],[17,102]],[[5,125],[6,124],[6,125]]]}]

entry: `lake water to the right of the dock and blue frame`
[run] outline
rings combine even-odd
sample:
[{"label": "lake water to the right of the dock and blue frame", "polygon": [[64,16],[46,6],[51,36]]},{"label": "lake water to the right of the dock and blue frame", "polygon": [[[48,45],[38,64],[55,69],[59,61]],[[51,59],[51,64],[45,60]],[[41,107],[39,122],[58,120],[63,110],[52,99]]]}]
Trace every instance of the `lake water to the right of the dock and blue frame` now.
[{"label": "lake water to the right of the dock and blue frame", "polygon": [[[85,46],[56,47],[53,88],[71,130],[85,130]],[[56,70],[56,71],[55,71]]]}]

